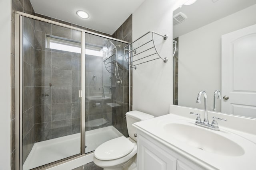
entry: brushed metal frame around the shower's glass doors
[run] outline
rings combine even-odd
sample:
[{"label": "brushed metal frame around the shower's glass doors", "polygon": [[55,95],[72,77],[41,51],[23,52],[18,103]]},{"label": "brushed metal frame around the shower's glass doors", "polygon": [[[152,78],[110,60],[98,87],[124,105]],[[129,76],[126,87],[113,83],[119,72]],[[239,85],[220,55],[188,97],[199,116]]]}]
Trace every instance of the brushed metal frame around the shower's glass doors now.
[{"label": "brushed metal frame around the shower's glass doors", "polygon": [[[80,133],[81,133],[81,139],[80,139],[80,153],[76,154],[74,156],[70,156],[55,162],[51,162],[49,164],[46,165],[42,165],[40,167],[36,167],[34,169],[46,169],[46,168],[51,168],[60,164],[63,164],[65,162],[69,162],[71,160],[86,156],[87,154],[90,153],[85,153],[85,84],[86,84],[86,77],[85,77],[85,45],[86,45],[86,39],[85,39],[85,34],[86,33],[90,33],[93,35],[97,35],[103,38],[107,38],[107,39],[112,39],[114,41],[118,41],[121,43],[127,43],[129,44],[127,41],[123,41],[120,39],[116,39],[116,38],[112,38],[112,37],[108,37],[106,35],[102,35],[102,34],[98,34],[98,33],[94,33],[91,31],[87,31],[85,29],[80,29],[77,27],[73,27],[70,25],[66,25],[63,23],[59,23],[56,21],[52,21],[52,20],[48,20],[45,18],[40,18],[37,16],[33,16],[30,14],[26,14],[23,12],[18,12],[15,11],[15,116],[16,116],[16,122],[15,122],[15,169],[16,170],[22,170],[22,147],[23,147],[23,141],[22,141],[22,112],[23,112],[23,51],[22,51],[22,47],[23,47],[23,17],[27,17],[27,18],[31,18],[34,20],[39,20],[39,21],[44,21],[47,23],[51,23],[51,24],[55,24],[55,25],[59,25],[62,27],[66,27],[69,29],[74,29],[76,31],[80,31],[82,33],[81,36],[81,91],[79,93],[79,96],[81,98],[81,122],[80,122]],[[129,67],[129,86],[130,86],[130,67]],[[130,88],[129,88],[129,106],[130,106]],[[18,120],[18,121],[17,121]]]}]

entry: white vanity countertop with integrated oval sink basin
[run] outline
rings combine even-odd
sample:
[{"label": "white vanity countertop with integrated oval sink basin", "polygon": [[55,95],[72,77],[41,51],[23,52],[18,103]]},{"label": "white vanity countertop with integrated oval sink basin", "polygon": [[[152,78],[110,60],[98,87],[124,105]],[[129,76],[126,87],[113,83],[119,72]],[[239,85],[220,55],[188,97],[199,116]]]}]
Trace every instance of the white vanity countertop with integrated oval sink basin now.
[{"label": "white vanity countertop with integrated oval sink basin", "polygon": [[[178,153],[180,158],[184,157],[195,162],[202,166],[200,169],[204,170],[255,169],[256,133],[253,130],[255,121],[246,127],[251,128],[252,131],[244,131],[243,128],[240,131],[238,123],[244,120],[227,115],[229,124],[223,123],[222,125],[219,122],[220,131],[214,131],[195,125],[195,117],[186,117],[190,116],[191,108],[180,111],[176,107],[180,108],[181,106],[172,107],[170,105],[170,111],[177,112],[176,114],[170,113],[132,125],[137,128],[139,140],[142,141],[139,145],[148,143],[147,145],[153,147],[159,143],[161,145],[156,147],[160,147],[164,151],[160,150],[162,154],[167,156]],[[218,115],[218,113],[212,113],[212,115],[214,114]],[[247,126],[247,124],[242,125]],[[237,129],[233,129],[235,126]],[[149,137],[147,139],[149,141],[144,142],[143,137]]]}]

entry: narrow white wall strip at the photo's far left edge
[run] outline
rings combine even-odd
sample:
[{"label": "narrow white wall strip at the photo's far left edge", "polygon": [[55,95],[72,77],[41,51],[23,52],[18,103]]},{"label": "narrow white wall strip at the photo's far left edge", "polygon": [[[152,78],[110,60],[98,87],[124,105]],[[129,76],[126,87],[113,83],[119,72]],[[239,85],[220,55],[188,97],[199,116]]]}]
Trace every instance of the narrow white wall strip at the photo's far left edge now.
[{"label": "narrow white wall strip at the photo's far left edge", "polygon": [[0,1],[0,170],[10,170],[11,152],[11,1]]}]

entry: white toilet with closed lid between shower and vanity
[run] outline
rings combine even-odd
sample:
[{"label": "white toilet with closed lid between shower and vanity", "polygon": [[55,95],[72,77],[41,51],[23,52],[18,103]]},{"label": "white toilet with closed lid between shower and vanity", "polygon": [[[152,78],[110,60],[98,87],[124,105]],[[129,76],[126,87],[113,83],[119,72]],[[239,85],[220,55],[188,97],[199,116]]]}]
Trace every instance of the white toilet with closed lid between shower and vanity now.
[{"label": "white toilet with closed lid between shower and vanity", "polygon": [[154,118],[140,111],[128,111],[126,123],[129,137],[124,136],[102,143],[94,151],[93,162],[104,170],[136,170],[136,128],[133,123]]}]

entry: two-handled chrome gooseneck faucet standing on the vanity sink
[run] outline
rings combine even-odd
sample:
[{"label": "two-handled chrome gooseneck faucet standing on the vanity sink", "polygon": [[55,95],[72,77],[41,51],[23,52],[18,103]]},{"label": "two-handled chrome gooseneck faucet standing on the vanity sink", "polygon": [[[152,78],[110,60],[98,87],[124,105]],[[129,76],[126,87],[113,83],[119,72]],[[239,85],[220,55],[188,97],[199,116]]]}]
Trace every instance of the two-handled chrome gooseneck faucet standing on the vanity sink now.
[{"label": "two-handled chrome gooseneck faucet standing on the vanity sink", "polygon": [[[215,91],[216,92],[216,91]],[[218,92],[216,92],[218,94]],[[201,121],[201,118],[200,118],[200,114],[199,113],[193,113],[193,112],[190,112],[190,114],[193,114],[193,115],[197,115],[196,117],[196,123],[195,125],[198,125],[198,126],[201,126],[201,127],[206,127],[208,129],[212,129],[212,130],[215,130],[215,131],[219,131],[219,126],[218,126],[218,123],[217,123],[217,120],[222,120],[222,121],[227,121],[227,119],[223,119],[223,118],[218,118],[218,117],[212,117],[213,121],[211,124],[209,124],[209,120],[208,120],[208,109],[207,109],[207,95],[206,95],[206,92],[205,91],[200,91],[198,93],[198,96],[197,96],[197,100],[196,100],[196,103],[201,103],[201,95],[204,94],[204,121],[202,122]],[[214,93],[215,94],[215,93]]]}]

